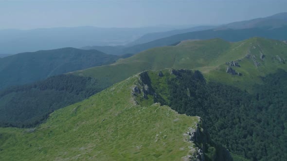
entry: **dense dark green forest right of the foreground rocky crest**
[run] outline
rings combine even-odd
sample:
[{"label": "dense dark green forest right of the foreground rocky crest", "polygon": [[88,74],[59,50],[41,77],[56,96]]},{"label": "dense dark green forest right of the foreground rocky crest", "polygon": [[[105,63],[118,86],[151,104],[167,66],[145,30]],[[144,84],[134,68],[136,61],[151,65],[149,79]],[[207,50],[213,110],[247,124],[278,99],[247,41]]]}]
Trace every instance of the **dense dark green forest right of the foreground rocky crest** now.
[{"label": "dense dark green forest right of the foreground rocky crest", "polygon": [[[211,138],[234,154],[252,161],[286,160],[287,72],[261,78],[252,94],[216,81],[206,82],[199,72],[180,70],[166,79],[168,94],[152,82],[155,102],[179,113],[200,116]],[[166,99],[163,99],[166,97]]]}]

